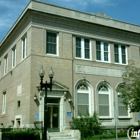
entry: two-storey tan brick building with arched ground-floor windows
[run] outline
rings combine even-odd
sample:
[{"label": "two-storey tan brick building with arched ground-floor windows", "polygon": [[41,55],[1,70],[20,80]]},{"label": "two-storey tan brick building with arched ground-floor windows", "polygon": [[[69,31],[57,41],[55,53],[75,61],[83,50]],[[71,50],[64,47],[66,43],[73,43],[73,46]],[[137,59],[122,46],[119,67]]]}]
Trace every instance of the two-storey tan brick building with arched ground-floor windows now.
[{"label": "two-storey tan brick building with arched ground-floor windows", "polygon": [[139,33],[140,26],[105,14],[30,1],[0,44],[0,123],[33,127],[43,120],[37,88],[43,66],[55,73],[48,92],[50,131],[69,129],[72,116],[94,111],[108,127],[137,124],[115,89],[129,59],[140,67]]}]

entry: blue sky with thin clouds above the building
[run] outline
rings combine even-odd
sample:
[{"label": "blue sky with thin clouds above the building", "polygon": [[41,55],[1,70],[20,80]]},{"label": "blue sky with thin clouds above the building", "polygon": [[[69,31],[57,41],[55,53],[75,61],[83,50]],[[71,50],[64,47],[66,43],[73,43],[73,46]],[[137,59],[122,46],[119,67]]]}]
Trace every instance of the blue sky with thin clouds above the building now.
[{"label": "blue sky with thin clouds above the building", "polygon": [[[0,0],[0,42],[30,0]],[[87,13],[140,25],[140,0],[39,0]]]}]

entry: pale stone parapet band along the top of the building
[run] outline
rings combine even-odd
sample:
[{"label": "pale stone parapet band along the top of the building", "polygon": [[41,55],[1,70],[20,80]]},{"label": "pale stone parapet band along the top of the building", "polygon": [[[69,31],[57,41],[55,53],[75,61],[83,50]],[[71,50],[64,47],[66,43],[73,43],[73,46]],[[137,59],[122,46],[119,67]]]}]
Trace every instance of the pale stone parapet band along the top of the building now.
[{"label": "pale stone parapet band along the top of the building", "polygon": [[0,46],[9,36],[9,34],[13,31],[13,29],[16,27],[16,25],[18,24],[18,22],[24,16],[24,14],[28,9],[35,10],[38,12],[49,13],[53,15],[59,15],[62,17],[98,24],[102,26],[112,27],[133,33],[140,33],[140,26],[112,19],[110,17],[107,17],[105,14],[90,14],[40,1],[31,0],[29,4],[26,6],[26,8],[23,10],[21,15],[19,16],[19,18],[15,21],[11,29],[8,31],[6,36],[3,38],[2,42],[0,43]]}]

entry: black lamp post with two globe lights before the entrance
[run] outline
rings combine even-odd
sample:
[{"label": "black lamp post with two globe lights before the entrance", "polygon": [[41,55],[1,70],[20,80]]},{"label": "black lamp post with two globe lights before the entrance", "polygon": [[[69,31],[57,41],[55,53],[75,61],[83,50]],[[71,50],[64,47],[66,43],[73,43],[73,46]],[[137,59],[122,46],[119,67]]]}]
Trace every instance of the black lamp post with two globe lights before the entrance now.
[{"label": "black lamp post with two globe lights before the entrance", "polygon": [[41,69],[39,71],[39,76],[40,76],[40,90],[42,91],[43,88],[45,88],[45,96],[44,96],[44,132],[43,132],[43,140],[47,140],[47,89],[49,88],[50,91],[52,91],[52,78],[54,76],[53,69],[51,67],[49,71],[49,78],[50,82],[43,83],[43,78],[45,75],[45,71],[43,69],[43,66],[41,66]]}]

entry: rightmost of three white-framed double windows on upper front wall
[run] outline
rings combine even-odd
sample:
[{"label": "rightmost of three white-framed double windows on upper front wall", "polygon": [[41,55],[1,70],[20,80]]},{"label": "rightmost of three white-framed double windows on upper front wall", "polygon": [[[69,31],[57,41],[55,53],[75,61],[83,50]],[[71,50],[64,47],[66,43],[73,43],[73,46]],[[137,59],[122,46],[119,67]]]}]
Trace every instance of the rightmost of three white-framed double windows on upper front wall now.
[{"label": "rightmost of three white-framed double windows on upper front wall", "polygon": [[126,64],[126,47],[115,44],[114,57],[115,63]]}]

